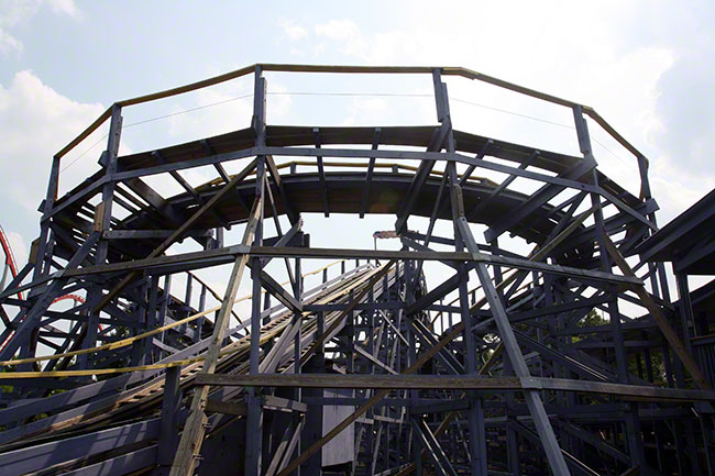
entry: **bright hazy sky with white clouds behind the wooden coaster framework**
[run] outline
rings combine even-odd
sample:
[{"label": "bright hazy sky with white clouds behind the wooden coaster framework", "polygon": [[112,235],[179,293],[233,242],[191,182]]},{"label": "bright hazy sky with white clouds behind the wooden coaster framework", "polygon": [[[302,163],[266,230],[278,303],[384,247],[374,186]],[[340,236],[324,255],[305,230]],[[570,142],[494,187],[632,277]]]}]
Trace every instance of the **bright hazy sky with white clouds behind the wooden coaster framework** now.
[{"label": "bright hazy sky with white clouds behind the wooden coaster framework", "polygon": [[[463,66],[591,106],[649,158],[662,225],[715,186],[714,12],[706,1],[0,0],[0,224],[24,263],[53,154],[113,101],[254,63],[305,63]],[[429,77],[266,77],[268,123],[437,122]],[[578,153],[569,110],[466,79],[447,82],[457,129]],[[295,95],[317,91],[366,96]],[[128,108],[120,153],[244,128],[251,92],[246,78]],[[635,157],[590,126],[602,170],[637,192]],[[105,132],[64,157],[61,195],[97,169]],[[178,192],[167,180],[150,182]],[[340,236],[353,247],[372,247],[372,232],[394,223],[310,220],[314,244]],[[345,226],[355,232],[336,234]]]}]

